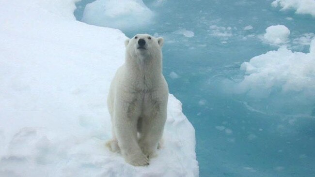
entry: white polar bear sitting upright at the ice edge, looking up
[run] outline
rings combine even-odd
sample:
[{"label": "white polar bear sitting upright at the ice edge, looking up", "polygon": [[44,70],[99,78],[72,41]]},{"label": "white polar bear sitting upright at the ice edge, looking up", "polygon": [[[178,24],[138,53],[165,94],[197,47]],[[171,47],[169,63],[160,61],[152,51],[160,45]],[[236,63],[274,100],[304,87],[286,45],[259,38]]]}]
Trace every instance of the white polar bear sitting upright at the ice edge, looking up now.
[{"label": "white polar bear sitting upright at the ice edge, looking up", "polygon": [[111,151],[134,166],[156,155],[167,117],[168,85],[162,74],[163,38],[137,34],[125,41],[125,63],[110,84]]}]

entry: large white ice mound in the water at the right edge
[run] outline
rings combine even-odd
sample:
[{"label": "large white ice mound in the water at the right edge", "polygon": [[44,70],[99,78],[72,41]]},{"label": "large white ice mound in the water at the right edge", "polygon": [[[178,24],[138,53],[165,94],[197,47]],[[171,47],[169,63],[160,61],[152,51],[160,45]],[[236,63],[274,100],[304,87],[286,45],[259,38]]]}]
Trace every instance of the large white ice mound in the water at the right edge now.
[{"label": "large white ice mound in the water at the right edge", "polygon": [[292,52],[286,47],[256,56],[241,65],[246,76],[237,84],[236,92],[252,95],[272,89],[315,96],[315,39],[310,53]]}]

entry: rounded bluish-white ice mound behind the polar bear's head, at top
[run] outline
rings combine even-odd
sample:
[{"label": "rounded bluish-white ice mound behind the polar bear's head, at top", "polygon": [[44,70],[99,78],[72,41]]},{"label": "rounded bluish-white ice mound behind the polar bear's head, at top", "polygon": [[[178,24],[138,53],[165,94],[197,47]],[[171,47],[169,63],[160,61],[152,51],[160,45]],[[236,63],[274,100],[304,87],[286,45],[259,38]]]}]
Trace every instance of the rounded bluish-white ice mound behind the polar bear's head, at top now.
[{"label": "rounded bluish-white ice mound behind the polar bear's head, at top", "polygon": [[117,29],[139,29],[152,23],[154,13],[142,0],[95,0],[87,4],[82,22]]}]

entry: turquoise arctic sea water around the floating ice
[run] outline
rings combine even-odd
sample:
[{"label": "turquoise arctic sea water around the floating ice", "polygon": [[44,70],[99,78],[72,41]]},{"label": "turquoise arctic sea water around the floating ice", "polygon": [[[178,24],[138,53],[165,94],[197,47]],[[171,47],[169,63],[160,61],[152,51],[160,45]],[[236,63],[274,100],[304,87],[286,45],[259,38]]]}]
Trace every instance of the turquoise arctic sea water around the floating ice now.
[{"label": "turquoise arctic sea water around the floating ice", "polygon": [[[78,20],[93,1],[77,3]],[[163,74],[196,130],[200,176],[315,176],[315,98],[277,87],[231,91],[244,78],[243,62],[279,48],[262,40],[266,28],[285,25],[287,47],[308,53],[315,17],[280,11],[272,0],[143,2],[154,23],[122,30],[164,37]]]}]

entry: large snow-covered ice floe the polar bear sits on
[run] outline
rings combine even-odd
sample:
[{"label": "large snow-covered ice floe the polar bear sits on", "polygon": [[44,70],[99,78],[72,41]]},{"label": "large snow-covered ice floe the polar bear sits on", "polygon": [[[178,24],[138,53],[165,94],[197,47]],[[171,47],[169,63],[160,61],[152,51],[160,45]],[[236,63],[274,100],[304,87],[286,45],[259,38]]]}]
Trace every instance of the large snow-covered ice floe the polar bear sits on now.
[{"label": "large snow-covered ice floe the polar bear sits on", "polygon": [[76,1],[0,2],[0,176],[198,176],[194,128],[173,95],[149,166],[105,148],[106,96],[126,36],[76,21]]}]

